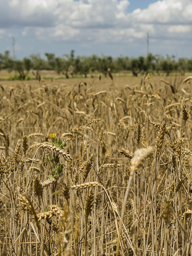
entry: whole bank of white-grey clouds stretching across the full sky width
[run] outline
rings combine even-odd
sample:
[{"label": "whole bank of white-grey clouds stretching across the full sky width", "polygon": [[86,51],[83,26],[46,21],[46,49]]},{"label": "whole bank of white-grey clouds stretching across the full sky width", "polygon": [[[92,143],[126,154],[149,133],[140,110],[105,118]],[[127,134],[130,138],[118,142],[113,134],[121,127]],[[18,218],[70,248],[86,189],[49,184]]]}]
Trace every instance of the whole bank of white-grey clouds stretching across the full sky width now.
[{"label": "whole bank of white-grey clouds stretching across the full sky width", "polygon": [[159,0],[144,10],[127,10],[128,0],[1,0],[0,24],[40,40],[131,42],[147,32],[151,38],[190,38],[191,0]]}]

